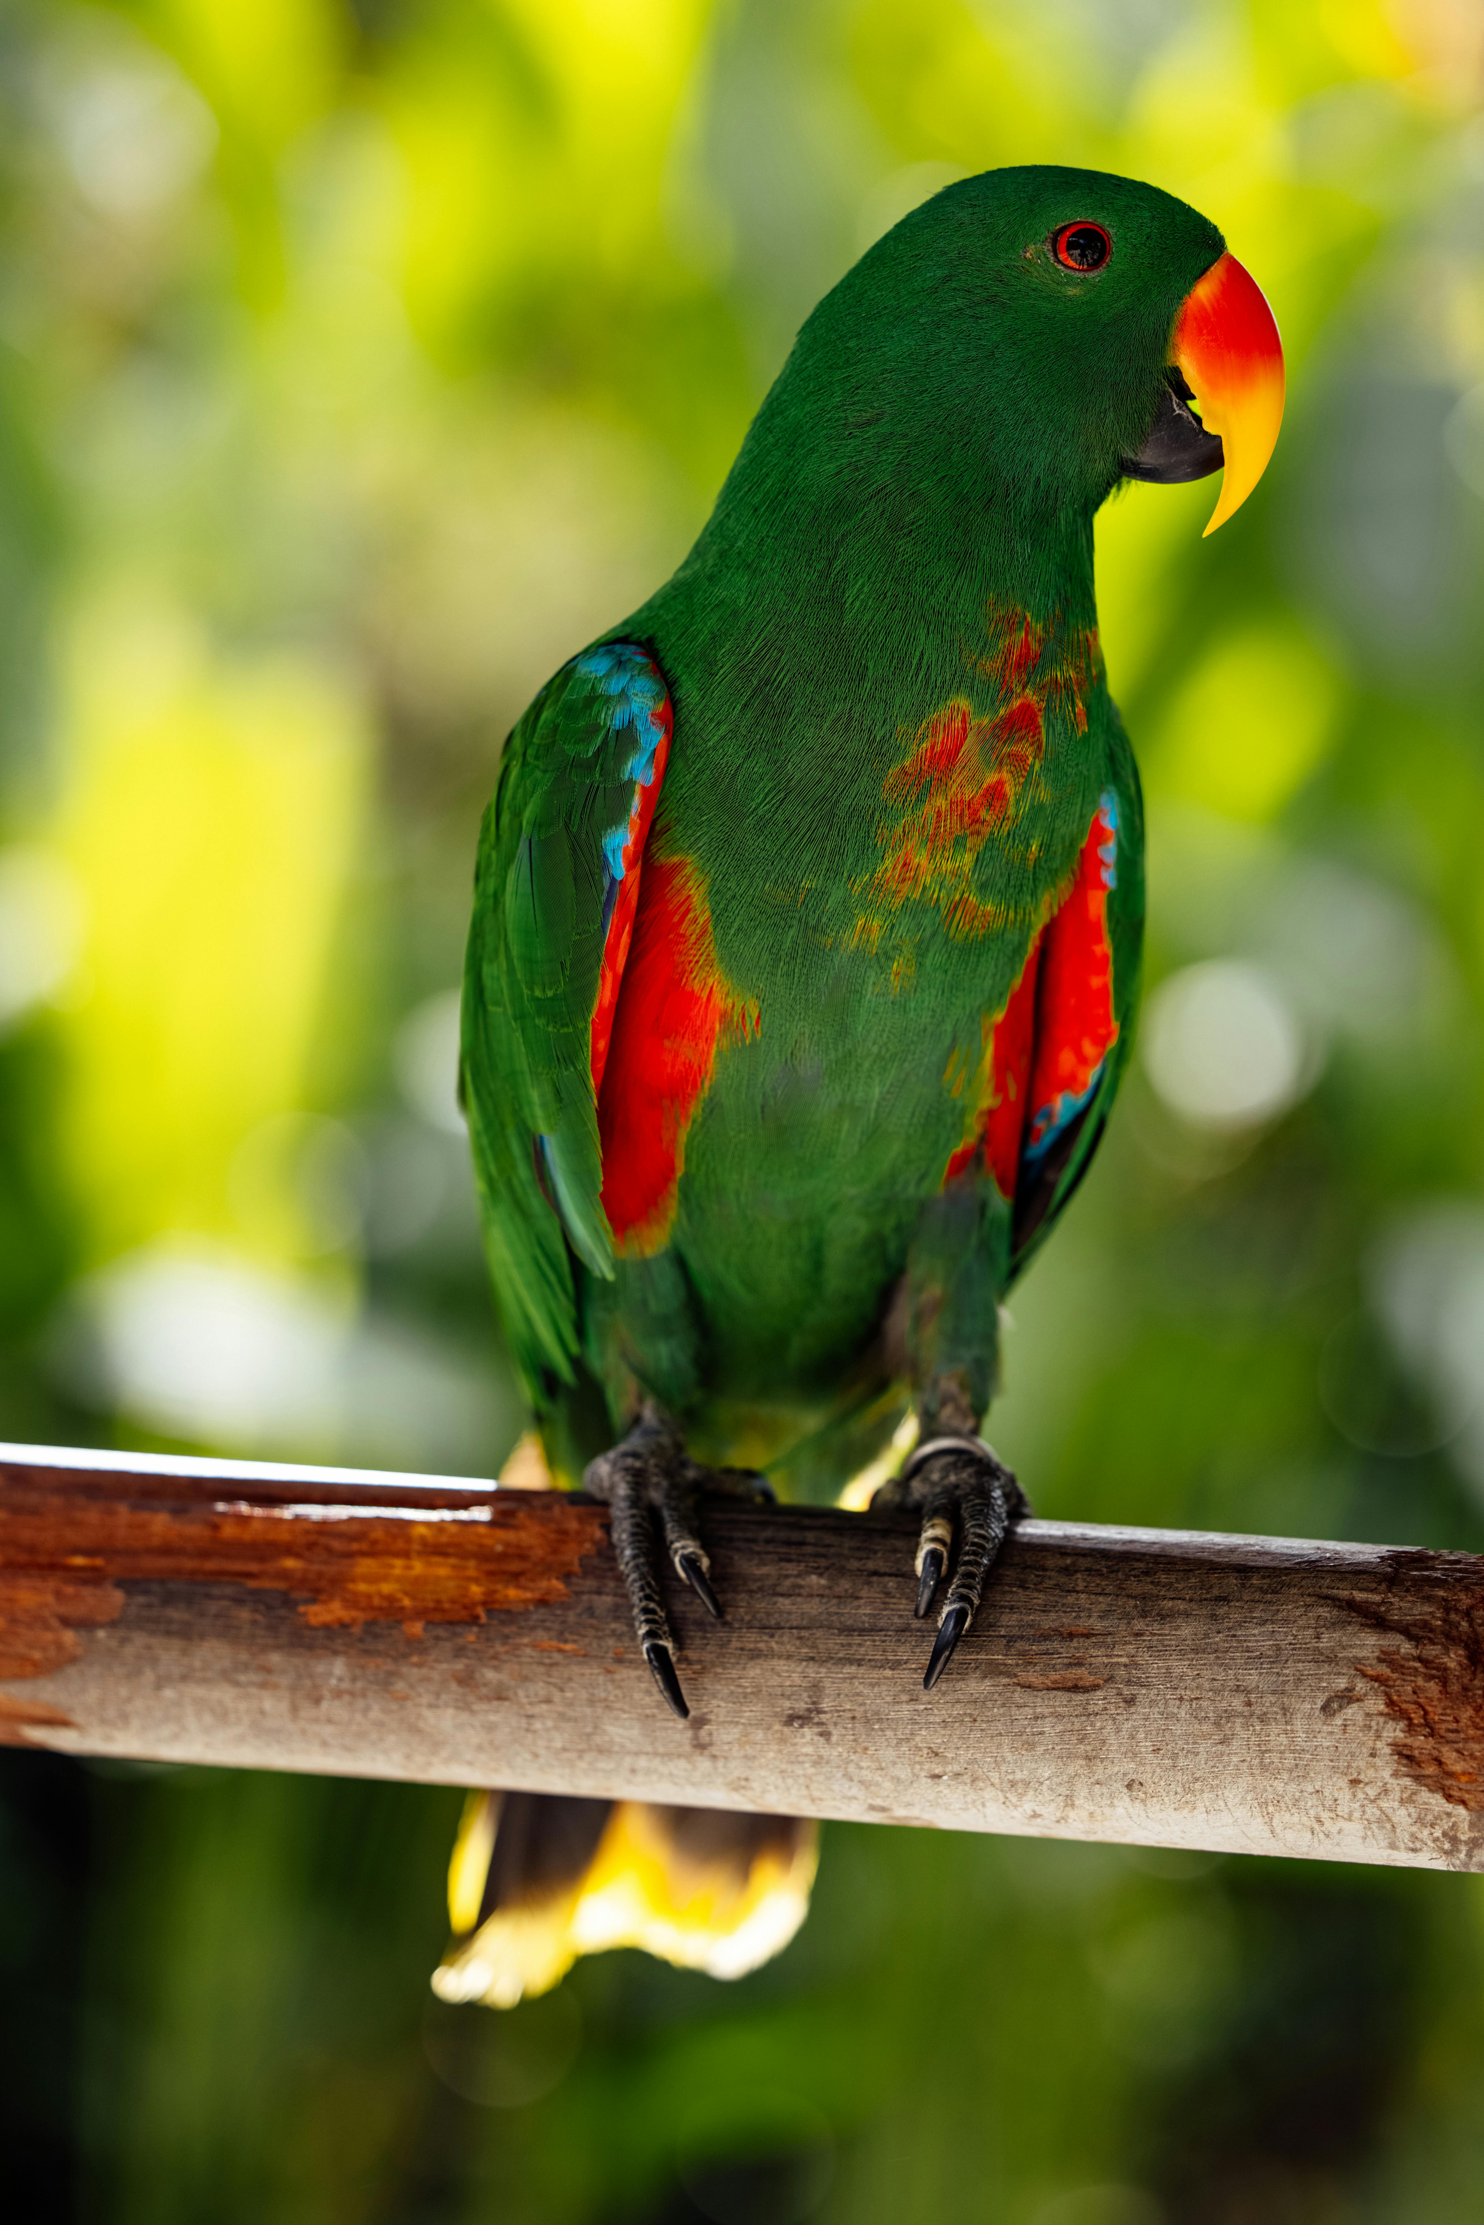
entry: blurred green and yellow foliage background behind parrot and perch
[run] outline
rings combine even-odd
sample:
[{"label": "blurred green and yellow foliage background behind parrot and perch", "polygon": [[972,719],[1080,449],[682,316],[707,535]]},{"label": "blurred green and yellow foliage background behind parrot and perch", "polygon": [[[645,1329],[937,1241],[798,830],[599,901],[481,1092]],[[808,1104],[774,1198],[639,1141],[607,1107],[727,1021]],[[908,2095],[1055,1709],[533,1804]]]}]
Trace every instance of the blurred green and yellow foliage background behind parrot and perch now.
[{"label": "blurred green and yellow foliage background behind parrot and perch", "polygon": [[[1043,1513],[1484,1546],[1473,0],[0,4],[0,1433],[489,1475],[498,739],[963,171],[1268,289],[1259,494],[1099,521],[1157,983],[1017,1295]],[[427,1994],[456,1793],[0,1758],[7,2212],[1464,2225],[1477,1880],[830,1829],[797,1947]]]}]

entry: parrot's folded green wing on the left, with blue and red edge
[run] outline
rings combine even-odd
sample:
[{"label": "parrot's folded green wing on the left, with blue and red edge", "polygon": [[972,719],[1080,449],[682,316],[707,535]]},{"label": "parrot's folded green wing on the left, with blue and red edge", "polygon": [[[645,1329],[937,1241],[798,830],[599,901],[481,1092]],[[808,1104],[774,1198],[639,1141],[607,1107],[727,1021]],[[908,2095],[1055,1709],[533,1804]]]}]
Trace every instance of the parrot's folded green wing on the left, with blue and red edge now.
[{"label": "parrot's folded green wing on the left, with blue and red edge", "polygon": [[654,659],[585,650],[514,728],[478,837],[461,1092],[496,1311],[538,1411],[574,1380],[572,1255],[614,1273],[596,1084],[667,750]]}]

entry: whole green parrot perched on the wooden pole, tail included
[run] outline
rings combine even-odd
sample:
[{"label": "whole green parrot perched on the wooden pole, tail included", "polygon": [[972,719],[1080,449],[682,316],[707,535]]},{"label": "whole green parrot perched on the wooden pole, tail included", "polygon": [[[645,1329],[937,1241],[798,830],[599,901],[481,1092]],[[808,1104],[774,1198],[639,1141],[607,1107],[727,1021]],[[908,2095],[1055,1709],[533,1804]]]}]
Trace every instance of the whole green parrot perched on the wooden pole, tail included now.
[{"label": "whole green parrot perched on the wooden pole, tail included", "polygon": [[[607,1500],[685,1715],[661,1571],[721,1613],[708,1491],[834,1497],[892,1442],[923,1682],[1015,1475],[999,1308],[1081,1181],[1139,990],[1139,777],[1092,516],[1277,441],[1273,314],[1217,227],[1079,169],[906,216],[821,300],[679,572],[514,728],[483,823],[463,1104],[550,1475]],[[1199,405],[1193,409],[1190,405]],[[730,1974],[814,1827],[476,1793],[449,1998],[636,1940]]]}]

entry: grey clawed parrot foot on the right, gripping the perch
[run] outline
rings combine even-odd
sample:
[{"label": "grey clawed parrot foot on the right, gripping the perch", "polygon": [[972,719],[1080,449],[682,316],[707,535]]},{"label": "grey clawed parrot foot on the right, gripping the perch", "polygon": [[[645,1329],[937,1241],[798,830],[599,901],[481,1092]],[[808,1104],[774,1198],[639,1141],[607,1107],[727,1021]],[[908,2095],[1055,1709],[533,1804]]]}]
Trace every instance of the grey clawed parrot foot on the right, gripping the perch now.
[{"label": "grey clawed parrot foot on the right, gripping the perch", "polygon": [[877,1491],[872,1506],[912,1506],[921,1513],[914,1560],[919,1622],[948,1573],[954,1511],[959,1515],[959,1560],[923,1675],[923,1691],[932,1691],[975,1620],[1010,1524],[1030,1513],[1026,1493],[983,1437],[941,1435],[917,1446],[901,1475]]}]

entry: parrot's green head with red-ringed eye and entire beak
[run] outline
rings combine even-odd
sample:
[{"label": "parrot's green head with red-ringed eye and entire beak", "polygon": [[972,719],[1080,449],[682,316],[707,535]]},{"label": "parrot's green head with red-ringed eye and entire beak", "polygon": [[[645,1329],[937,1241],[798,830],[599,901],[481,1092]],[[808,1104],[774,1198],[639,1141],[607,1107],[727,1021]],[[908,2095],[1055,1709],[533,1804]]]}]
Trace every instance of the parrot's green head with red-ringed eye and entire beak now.
[{"label": "parrot's green head with red-ringed eye and entire beak", "polygon": [[821,303],[801,334],[812,347],[832,358],[857,438],[877,398],[888,441],[910,432],[939,467],[952,454],[1035,512],[1090,516],[1121,478],[1224,467],[1215,532],[1262,478],[1284,414],[1273,312],[1217,227],[1095,169],[950,185]]}]

